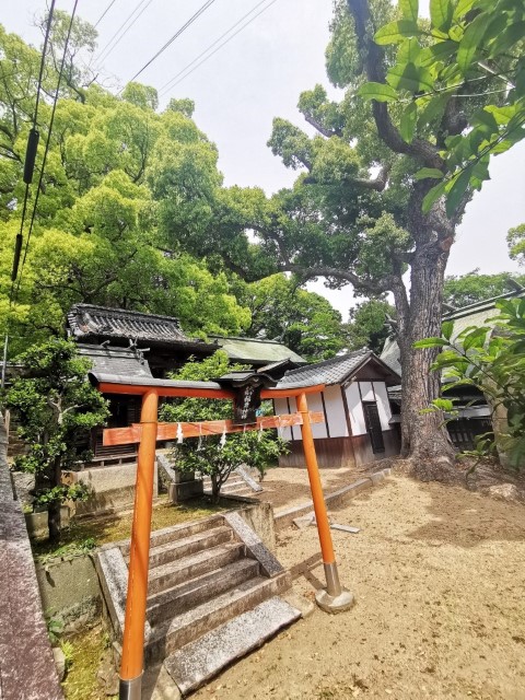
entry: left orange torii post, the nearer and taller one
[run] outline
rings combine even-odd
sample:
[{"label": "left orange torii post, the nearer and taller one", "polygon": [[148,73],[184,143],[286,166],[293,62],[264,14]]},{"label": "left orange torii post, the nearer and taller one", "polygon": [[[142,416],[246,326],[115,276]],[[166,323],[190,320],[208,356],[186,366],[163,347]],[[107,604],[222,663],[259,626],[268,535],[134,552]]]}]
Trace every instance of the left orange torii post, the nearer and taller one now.
[{"label": "left orange torii post, the nearer and taller one", "polygon": [[155,389],[150,389],[142,396],[140,413],[142,434],[129,552],[128,595],[120,664],[120,700],[140,700],[141,697],[158,407],[158,393]]}]

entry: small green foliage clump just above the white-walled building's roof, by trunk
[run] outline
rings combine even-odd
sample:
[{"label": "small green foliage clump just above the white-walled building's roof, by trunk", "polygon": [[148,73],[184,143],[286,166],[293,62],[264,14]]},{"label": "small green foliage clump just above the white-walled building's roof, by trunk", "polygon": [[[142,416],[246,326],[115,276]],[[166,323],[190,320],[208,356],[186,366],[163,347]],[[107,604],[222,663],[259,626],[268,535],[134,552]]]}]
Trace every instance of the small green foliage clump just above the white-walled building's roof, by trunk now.
[{"label": "small green foliage clump just above the white-walled building's roof, by trunk", "polygon": [[350,308],[348,339],[350,350],[370,348],[380,354],[393,329],[386,318],[396,317],[396,308],[383,299],[371,299]]}]

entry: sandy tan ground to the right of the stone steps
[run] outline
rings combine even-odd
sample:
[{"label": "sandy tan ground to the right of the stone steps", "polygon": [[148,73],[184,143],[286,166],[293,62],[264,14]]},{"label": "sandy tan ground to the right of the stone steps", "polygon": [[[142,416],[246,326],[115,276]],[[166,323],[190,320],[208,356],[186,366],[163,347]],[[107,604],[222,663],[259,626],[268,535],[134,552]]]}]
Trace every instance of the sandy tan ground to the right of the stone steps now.
[{"label": "sandy tan ground to the right of the stone steps", "polygon": [[[525,700],[523,505],[397,476],[332,514],[361,528],[334,532],[355,607],[316,609],[195,700]],[[278,557],[311,598],[318,549],[315,527],[279,535]]]}]

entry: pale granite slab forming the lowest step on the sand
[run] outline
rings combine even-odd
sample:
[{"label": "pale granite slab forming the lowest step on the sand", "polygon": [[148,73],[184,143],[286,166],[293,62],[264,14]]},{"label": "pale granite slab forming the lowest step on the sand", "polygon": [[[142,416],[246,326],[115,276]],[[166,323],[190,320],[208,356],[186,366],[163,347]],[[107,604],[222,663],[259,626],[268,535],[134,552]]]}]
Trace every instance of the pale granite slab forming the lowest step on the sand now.
[{"label": "pale granite slab forming the lowest step on the sand", "polygon": [[174,652],[164,667],[186,695],[300,617],[294,607],[272,597]]}]

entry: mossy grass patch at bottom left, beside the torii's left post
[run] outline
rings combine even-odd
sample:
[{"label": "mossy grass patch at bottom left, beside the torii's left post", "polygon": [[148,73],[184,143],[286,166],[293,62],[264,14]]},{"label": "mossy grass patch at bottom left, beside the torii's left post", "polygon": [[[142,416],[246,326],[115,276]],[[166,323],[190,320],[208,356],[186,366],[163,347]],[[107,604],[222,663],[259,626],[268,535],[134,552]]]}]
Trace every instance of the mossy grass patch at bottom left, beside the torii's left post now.
[{"label": "mossy grass patch at bottom left, beside the torii's left post", "polygon": [[109,639],[98,625],[81,634],[68,639],[70,645],[70,667],[62,682],[63,695],[68,700],[107,700],[117,696],[106,696],[100,688],[96,672],[104,653],[107,653]]}]

